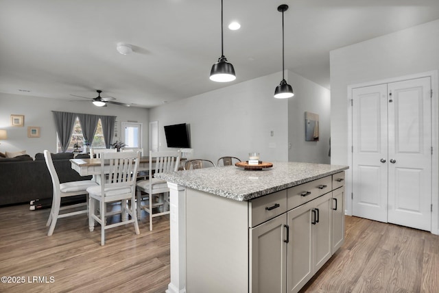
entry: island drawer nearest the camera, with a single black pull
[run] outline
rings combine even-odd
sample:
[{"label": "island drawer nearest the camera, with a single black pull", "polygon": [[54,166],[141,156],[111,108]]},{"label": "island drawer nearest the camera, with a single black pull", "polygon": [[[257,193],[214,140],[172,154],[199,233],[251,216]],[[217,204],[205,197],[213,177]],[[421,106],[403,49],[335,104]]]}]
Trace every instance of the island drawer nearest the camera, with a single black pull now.
[{"label": "island drawer nearest the camera, with a single black pull", "polygon": [[255,227],[285,212],[287,212],[287,190],[252,199],[248,205],[248,225]]}]

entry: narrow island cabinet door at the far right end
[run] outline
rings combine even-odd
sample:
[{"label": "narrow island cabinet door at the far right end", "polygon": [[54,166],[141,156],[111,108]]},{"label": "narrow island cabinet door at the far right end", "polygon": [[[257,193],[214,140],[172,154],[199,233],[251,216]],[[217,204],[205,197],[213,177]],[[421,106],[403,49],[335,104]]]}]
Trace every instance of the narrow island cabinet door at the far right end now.
[{"label": "narrow island cabinet door at the far right end", "polygon": [[332,254],[344,242],[344,186],[332,192]]}]

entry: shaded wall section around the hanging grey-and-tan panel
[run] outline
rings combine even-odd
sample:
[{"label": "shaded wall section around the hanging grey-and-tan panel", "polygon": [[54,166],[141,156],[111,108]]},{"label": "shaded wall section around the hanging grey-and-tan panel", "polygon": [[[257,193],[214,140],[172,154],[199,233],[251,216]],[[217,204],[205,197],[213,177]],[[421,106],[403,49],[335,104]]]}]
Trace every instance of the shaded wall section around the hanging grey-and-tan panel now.
[{"label": "shaded wall section around the hanging grey-and-tan panel", "polygon": [[[288,83],[294,90],[294,97],[288,101],[288,136],[292,146],[288,160],[329,164],[331,92],[291,71]],[[319,115],[320,135],[316,142],[305,141],[305,112]]]}]

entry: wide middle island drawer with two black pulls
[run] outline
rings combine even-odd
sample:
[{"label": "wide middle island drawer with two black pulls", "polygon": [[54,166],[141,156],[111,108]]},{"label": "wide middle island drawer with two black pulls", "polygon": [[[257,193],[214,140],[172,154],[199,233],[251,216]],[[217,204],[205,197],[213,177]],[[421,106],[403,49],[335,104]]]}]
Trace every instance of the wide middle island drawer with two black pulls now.
[{"label": "wide middle island drawer with two black pulls", "polygon": [[303,183],[287,189],[288,210],[316,199],[332,189],[331,176]]}]

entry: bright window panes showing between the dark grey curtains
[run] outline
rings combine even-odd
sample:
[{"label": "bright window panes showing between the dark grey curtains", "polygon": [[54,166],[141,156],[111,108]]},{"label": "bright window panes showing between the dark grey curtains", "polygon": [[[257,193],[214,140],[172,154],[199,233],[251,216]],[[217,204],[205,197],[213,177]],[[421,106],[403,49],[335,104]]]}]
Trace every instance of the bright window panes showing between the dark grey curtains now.
[{"label": "bright window panes showing between the dark grey curtains", "polygon": [[[71,133],[71,138],[69,142],[69,147],[67,148],[67,152],[73,152],[76,150],[75,144],[78,145],[78,151],[84,150],[84,136],[82,136],[82,129],[80,120],[78,117],[75,119],[75,125],[73,126],[73,132]],[[56,136],[56,146],[57,146],[57,153],[62,153],[60,140],[58,139],[58,136]],[[93,138],[93,144],[91,145],[93,148],[97,149],[105,149],[106,144],[104,140],[104,134],[102,133],[102,123],[101,119],[97,122],[97,129],[95,132],[95,136]]]}]

